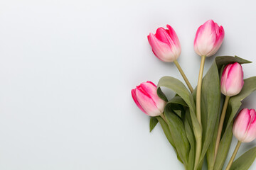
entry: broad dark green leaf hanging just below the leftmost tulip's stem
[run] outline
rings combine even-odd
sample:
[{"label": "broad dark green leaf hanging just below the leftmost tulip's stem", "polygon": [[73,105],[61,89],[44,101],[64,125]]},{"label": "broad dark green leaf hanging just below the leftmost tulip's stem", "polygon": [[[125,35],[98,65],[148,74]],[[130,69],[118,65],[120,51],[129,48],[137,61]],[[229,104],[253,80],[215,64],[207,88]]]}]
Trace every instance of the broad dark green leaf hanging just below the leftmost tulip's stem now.
[{"label": "broad dark green leaf hanging just below the leftmost tulip's stem", "polygon": [[186,131],[183,125],[181,118],[178,117],[175,113],[171,112],[171,108],[166,107],[164,109],[164,115],[169,125],[171,136],[174,140],[174,145],[178,155],[181,157],[181,160],[185,165],[188,164],[188,154],[190,145],[186,137]]}]

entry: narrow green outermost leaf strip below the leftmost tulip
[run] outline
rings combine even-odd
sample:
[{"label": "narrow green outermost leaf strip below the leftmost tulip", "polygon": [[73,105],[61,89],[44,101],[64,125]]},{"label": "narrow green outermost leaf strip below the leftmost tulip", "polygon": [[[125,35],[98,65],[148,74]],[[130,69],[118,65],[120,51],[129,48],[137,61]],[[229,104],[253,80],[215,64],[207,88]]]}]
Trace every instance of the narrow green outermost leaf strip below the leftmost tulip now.
[{"label": "narrow green outermost leaf strip below the leftmost tulip", "polygon": [[163,130],[164,130],[164,134],[166,135],[167,140],[170,142],[171,146],[174,147],[174,151],[177,154],[178,160],[183,164],[181,157],[178,155],[178,152],[174,145],[174,140],[171,136],[171,131],[169,129],[169,125],[167,125],[167,123],[164,121],[164,119],[162,119],[160,116],[157,116],[156,119],[159,120],[159,123],[161,124],[161,128],[163,128]]}]

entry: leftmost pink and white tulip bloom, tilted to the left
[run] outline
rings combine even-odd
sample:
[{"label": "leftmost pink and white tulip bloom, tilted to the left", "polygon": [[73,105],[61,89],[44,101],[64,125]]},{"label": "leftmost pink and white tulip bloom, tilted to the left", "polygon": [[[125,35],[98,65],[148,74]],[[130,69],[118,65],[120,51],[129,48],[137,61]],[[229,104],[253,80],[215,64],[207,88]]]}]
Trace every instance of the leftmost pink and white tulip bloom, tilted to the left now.
[{"label": "leftmost pink and white tulip bloom, tilted to the left", "polygon": [[151,81],[146,81],[146,83],[137,86],[136,89],[132,89],[134,102],[146,115],[157,116],[164,111],[166,102],[157,96],[156,90],[156,85]]}]

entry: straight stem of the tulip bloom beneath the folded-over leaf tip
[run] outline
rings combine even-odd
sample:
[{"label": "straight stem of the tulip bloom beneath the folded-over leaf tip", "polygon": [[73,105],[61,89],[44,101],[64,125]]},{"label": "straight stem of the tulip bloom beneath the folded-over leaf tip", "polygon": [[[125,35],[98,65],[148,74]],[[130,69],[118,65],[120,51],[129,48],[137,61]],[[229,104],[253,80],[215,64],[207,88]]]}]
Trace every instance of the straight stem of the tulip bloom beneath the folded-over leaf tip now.
[{"label": "straight stem of the tulip bloom beneath the folded-over leaf tip", "polygon": [[220,136],[221,136],[221,132],[223,130],[223,123],[224,123],[224,120],[225,120],[225,113],[226,113],[227,108],[228,108],[229,99],[230,99],[230,96],[225,97],[225,101],[224,101],[224,105],[223,105],[223,111],[222,111],[221,116],[220,116],[220,124],[219,124],[219,127],[218,127],[218,135],[217,135],[217,139],[216,139],[215,152],[214,152],[214,162],[215,162],[215,159],[216,159],[217,154],[218,154],[218,147],[220,145]]}]

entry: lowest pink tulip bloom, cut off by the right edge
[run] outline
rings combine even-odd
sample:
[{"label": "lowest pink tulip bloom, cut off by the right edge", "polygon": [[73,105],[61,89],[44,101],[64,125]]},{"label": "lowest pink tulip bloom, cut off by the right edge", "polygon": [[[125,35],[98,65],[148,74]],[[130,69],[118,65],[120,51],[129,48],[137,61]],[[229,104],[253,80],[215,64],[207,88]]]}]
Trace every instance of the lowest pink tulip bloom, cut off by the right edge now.
[{"label": "lowest pink tulip bloom, cut off by the right edge", "polygon": [[256,138],[256,112],[244,108],[238,113],[233,125],[233,134],[241,142],[252,142]]}]

